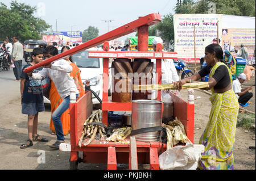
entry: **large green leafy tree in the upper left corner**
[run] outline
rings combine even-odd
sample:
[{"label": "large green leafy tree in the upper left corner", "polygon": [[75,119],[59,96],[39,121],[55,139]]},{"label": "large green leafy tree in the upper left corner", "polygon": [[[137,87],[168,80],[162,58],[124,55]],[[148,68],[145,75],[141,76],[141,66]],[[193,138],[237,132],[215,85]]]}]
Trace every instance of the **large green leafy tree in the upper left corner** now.
[{"label": "large green leafy tree in the upper left corner", "polygon": [[40,39],[40,33],[51,28],[43,19],[34,16],[36,7],[12,1],[10,8],[0,3],[0,39],[18,36],[20,41]]}]

